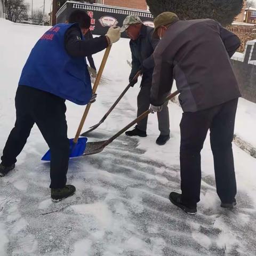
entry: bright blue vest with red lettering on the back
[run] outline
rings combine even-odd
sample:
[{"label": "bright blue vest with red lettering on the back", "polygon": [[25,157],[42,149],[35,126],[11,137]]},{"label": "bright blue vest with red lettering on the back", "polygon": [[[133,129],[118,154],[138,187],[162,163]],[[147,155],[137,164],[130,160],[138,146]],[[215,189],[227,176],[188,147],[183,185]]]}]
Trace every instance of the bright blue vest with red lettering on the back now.
[{"label": "bright blue vest with red lettering on the back", "polygon": [[92,97],[91,78],[85,58],[71,57],[65,49],[65,33],[71,26],[78,25],[58,24],[37,41],[23,67],[19,85],[85,105]]}]

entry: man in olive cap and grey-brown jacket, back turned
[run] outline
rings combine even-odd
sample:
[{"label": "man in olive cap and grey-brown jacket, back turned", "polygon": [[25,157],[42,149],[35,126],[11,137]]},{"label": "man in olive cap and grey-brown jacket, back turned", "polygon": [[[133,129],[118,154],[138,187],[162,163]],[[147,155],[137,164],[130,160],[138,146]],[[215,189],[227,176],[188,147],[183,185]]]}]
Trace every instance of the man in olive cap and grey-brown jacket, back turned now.
[{"label": "man in olive cap and grey-brown jacket, back turned", "polygon": [[230,57],[239,38],[210,19],[179,21],[165,12],[154,20],[154,36],[162,38],[155,52],[151,87],[152,111],[161,110],[173,78],[183,110],[180,123],[181,194],[170,201],[195,214],[200,200],[201,150],[210,129],[215,181],[221,207],[236,205],[236,178],[231,142],[238,97],[241,96]]}]

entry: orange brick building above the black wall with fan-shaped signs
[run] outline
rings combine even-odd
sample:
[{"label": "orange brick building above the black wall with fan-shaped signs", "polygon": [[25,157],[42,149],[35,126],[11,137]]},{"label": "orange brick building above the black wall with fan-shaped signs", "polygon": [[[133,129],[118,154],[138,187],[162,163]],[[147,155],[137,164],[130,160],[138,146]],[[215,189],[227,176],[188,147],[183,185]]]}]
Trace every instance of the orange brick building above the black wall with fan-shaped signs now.
[{"label": "orange brick building above the black wall with fan-shaped signs", "polygon": [[147,10],[146,0],[98,0],[97,4],[106,4],[111,6],[126,7],[131,9]]}]

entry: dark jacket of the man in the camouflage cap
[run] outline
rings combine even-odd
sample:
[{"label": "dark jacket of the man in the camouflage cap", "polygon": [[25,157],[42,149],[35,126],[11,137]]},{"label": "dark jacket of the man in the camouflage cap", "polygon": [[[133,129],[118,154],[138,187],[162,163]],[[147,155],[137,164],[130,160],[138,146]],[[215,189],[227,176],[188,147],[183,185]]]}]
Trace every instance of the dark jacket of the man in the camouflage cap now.
[{"label": "dark jacket of the man in the camouflage cap", "polygon": [[153,52],[159,42],[158,39],[152,38],[153,30],[153,28],[142,24],[138,39],[130,41],[130,48],[132,52],[132,71],[129,77],[130,81],[135,74],[142,69],[142,82],[145,78],[149,78],[151,83],[154,70]]}]

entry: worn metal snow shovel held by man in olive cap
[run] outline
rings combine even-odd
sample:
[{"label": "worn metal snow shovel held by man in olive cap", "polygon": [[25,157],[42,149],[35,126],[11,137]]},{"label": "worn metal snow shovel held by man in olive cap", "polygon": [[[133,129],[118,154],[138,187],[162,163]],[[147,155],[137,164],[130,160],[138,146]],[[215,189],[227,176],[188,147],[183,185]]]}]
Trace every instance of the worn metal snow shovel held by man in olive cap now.
[{"label": "worn metal snow shovel held by man in olive cap", "polygon": [[[176,95],[179,94],[179,91],[175,91],[174,93],[171,93],[167,98],[167,100],[170,100],[172,98],[174,98]],[[85,155],[93,155],[93,154],[97,154],[100,153],[106,146],[108,146],[113,140],[115,140],[117,137],[119,137],[119,135],[121,135],[123,132],[125,132],[127,129],[129,129],[130,127],[132,127],[135,123],[141,121],[143,118],[145,118],[148,114],[149,114],[149,110],[145,111],[143,114],[141,114],[139,117],[137,117],[136,119],[134,119],[130,124],[126,125],[121,131],[119,131],[118,133],[116,133],[113,137],[111,137],[108,140],[104,140],[104,141],[95,141],[95,142],[88,142],[86,145],[86,149],[84,151],[83,156]]]}]

